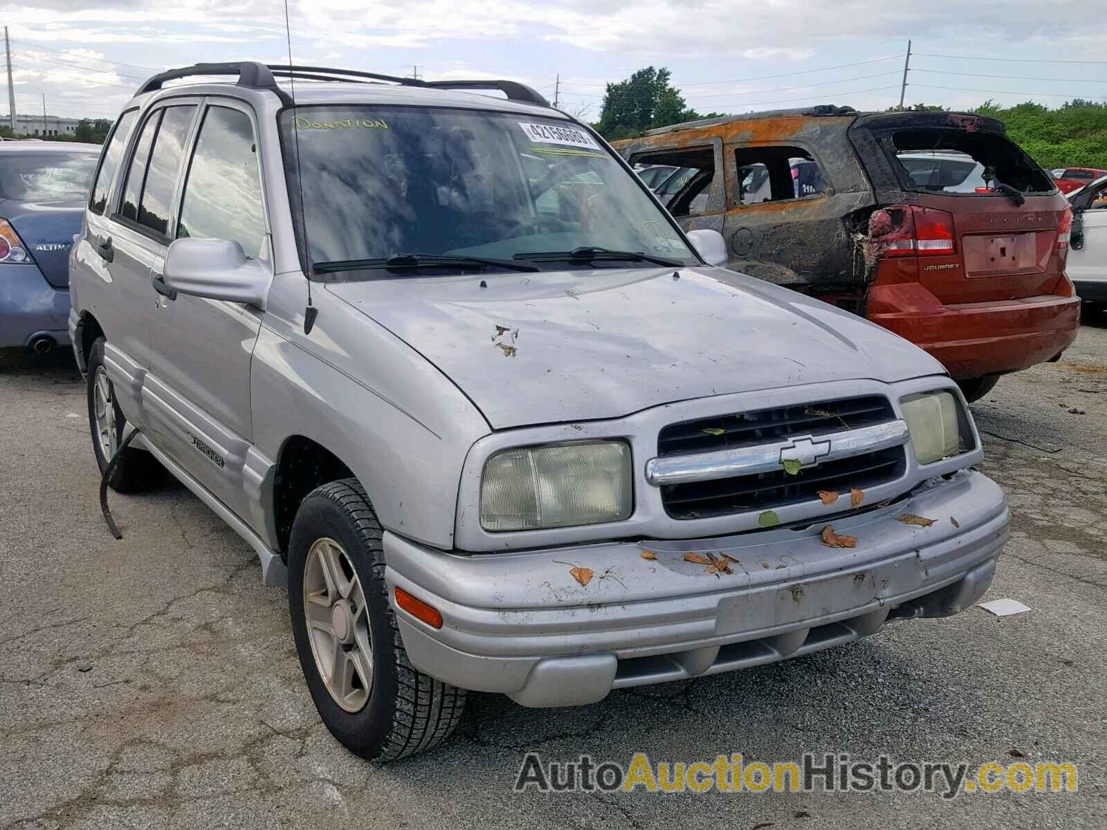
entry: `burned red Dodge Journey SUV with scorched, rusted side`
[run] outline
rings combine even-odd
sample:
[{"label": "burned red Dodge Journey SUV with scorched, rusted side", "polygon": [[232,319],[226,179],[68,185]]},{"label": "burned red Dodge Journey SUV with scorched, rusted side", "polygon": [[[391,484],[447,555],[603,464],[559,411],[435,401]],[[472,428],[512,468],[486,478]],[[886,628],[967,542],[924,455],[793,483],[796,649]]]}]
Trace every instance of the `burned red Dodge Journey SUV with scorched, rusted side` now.
[{"label": "burned red Dodge Journey SUV with scorched, rusted side", "polygon": [[907,338],[974,401],[1001,374],[1058,359],[1079,325],[1072,211],[1004,133],[970,113],[818,106],[615,147],[635,166],[680,168],[665,206],[686,230],[723,234],[730,268]]}]

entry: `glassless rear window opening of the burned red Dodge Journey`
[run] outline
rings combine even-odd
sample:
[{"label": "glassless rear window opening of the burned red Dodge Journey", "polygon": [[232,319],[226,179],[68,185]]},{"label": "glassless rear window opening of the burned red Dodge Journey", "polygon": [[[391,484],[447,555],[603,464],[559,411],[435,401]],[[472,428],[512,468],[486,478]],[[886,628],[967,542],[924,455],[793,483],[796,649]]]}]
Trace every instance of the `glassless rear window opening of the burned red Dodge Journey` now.
[{"label": "glassless rear window opening of the burned red Dodge Journey", "polygon": [[1053,181],[1010,138],[984,131],[899,129],[886,136],[908,190],[989,195],[999,185],[1049,193]]}]

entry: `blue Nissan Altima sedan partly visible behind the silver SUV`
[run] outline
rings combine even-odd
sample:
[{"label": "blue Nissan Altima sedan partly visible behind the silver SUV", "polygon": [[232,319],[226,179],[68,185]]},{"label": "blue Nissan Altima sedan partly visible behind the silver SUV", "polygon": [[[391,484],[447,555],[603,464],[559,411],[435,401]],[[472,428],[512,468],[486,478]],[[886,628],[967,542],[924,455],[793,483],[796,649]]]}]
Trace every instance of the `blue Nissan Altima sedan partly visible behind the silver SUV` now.
[{"label": "blue Nissan Altima sedan partly visible behind the silver SUV", "polygon": [[0,143],[0,349],[69,344],[69,251],[100,147]]}]

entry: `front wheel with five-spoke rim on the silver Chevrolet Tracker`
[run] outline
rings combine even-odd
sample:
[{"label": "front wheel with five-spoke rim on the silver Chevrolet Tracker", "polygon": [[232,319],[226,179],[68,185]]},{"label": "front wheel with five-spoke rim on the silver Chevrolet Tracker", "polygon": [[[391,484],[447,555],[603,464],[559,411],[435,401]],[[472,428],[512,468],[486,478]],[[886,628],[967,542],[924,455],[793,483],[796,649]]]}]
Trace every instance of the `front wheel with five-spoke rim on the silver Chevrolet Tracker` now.
[{"label": "front wheel with five-spoke rim on the silver Chevrolet Tracker", "polygon": [[[389,604],[381,536],[356,479],[309,492],[289,541],[288,606],[300,666],[327,728],[355,755],[386,762],[445,740],[461,720],[466,692],[407,660]],[[310,633],[306,609],[314,615]],[[331,620],[329,632],[323,618]],[[340,661],[344,668],[335,672]]]}]

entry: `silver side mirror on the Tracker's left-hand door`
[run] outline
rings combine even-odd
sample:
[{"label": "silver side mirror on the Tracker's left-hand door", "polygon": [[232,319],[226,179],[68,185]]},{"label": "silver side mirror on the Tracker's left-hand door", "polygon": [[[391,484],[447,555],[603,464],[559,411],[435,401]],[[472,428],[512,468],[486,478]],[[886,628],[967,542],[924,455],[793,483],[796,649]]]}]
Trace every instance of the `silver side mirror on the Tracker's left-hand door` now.
[{"label": "silver side mirror on the Tracker's left-hand door", "polygon": [[256,305],[265,311],[272,273],[265,262],[247,258],[228,239],[176,239],[165,255],[165,284],[208,300]]}]

